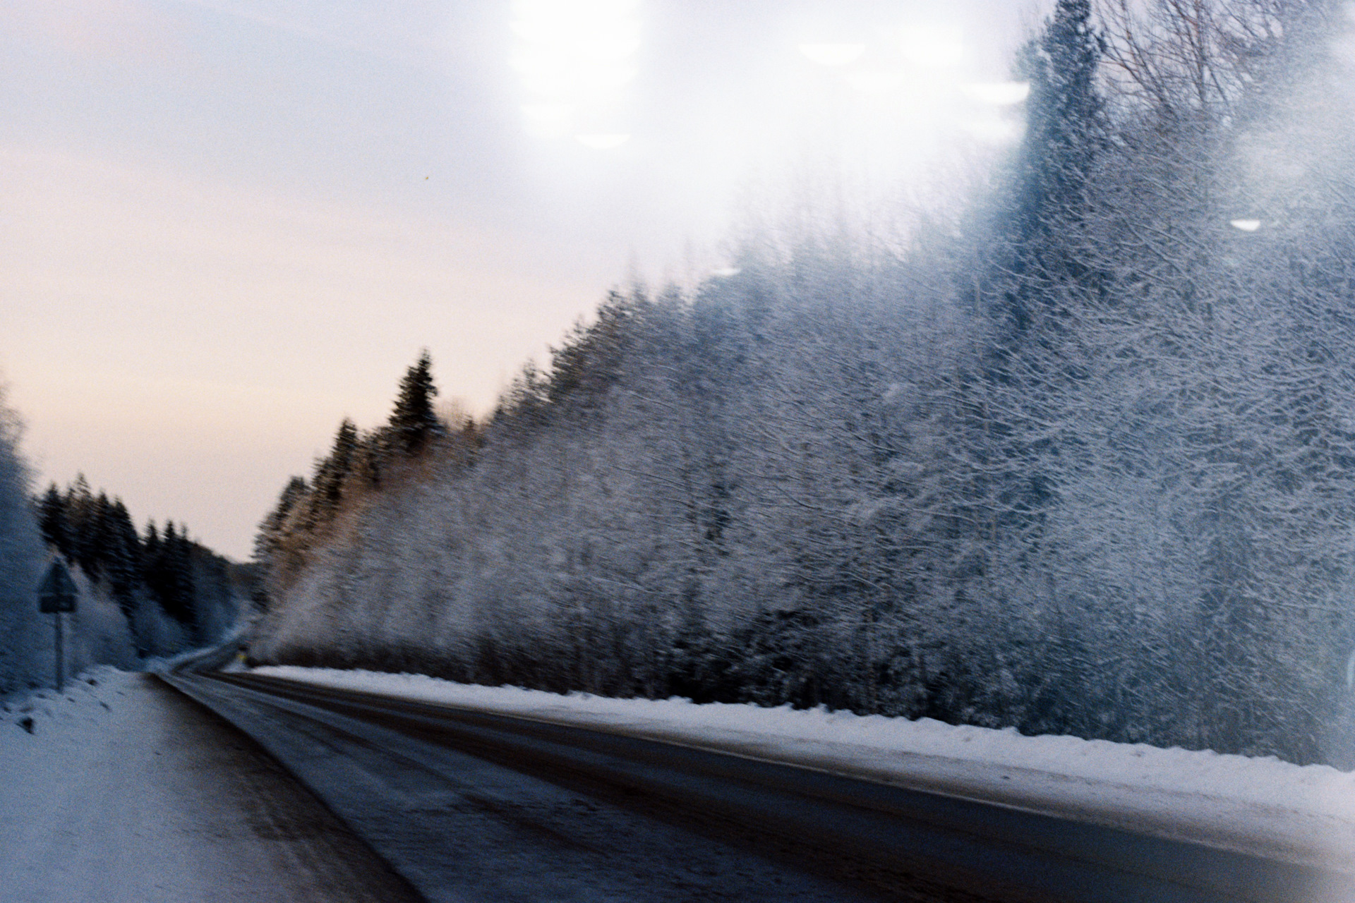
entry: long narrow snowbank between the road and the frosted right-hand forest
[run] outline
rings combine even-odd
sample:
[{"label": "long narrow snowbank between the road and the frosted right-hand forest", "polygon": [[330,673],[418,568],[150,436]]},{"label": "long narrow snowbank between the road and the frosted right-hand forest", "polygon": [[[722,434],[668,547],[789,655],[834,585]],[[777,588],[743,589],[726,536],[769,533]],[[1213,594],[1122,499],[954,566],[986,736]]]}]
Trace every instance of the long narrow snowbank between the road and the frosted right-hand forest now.
[{"label": "long narrow snowbank between the road and the frosted right-hand forest", "polygon": [[253,673],[725,750],[1355,872],[1355,774],[1325,765],[931,719],[560,696],[420,674]]}]

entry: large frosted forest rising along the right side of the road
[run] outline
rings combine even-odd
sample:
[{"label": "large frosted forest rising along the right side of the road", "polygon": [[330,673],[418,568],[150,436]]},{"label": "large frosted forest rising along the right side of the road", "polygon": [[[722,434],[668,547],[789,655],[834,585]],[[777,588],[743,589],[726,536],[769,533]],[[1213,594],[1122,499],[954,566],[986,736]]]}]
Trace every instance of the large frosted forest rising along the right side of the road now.
[{"label": "large frosted forest rising along the right side of the road", "polygon": [[346,421],[259,662],[1355,765],[1355,20],[1060,0],[905,241],[612,292],[484,422]]}]

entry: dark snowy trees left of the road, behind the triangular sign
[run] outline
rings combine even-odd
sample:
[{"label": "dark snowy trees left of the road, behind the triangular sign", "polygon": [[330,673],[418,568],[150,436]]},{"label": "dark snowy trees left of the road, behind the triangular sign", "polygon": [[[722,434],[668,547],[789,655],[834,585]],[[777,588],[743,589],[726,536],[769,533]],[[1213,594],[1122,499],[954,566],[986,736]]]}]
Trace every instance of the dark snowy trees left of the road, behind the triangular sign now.
[{"label": "dark snowy trees left of the road, behind the triangular sign", "polygon": [[0,394],[0,696],[53,680],[53,627],[38,582],[60,555],[80,597],[66,615],[68,670],[141,667],[221,638],[248,597],[248,571],[168,521],[137,532],[127,506],[81,475],[34,498],[18,414]]}]

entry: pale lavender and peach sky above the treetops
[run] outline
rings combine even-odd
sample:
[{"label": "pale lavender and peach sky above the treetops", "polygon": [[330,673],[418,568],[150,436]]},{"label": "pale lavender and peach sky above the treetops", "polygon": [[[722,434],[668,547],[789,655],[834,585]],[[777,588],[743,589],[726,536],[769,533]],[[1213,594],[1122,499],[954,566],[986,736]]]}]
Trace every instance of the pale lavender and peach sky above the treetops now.
[{"label": "pale lavender and peach sky above the treetops", "polygon": [[1004,79],[1047,5],[570,3],[625,19],[629,77],[543,127],[565,107],[522,62],[531,0],[0,0],[0,374],[38,486],[83,471],[245,559],[420,348],[489,410],[630,273],[722,265],[736,199],[795,154],[923,168],[936,85]]}]

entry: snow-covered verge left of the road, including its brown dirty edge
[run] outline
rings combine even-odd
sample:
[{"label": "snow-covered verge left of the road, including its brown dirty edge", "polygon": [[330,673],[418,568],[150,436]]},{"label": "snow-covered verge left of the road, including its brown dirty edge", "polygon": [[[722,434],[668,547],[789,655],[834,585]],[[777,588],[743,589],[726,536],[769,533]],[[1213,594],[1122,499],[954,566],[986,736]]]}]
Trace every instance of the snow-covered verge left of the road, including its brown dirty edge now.
[{"label": "snow-covered verge left of the road, including its brown dirty edge", "polygon": [[412,900],[262,751],[146,674],[0,703],[0,900]]}]

